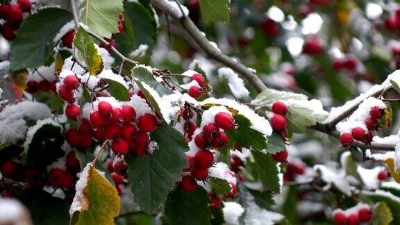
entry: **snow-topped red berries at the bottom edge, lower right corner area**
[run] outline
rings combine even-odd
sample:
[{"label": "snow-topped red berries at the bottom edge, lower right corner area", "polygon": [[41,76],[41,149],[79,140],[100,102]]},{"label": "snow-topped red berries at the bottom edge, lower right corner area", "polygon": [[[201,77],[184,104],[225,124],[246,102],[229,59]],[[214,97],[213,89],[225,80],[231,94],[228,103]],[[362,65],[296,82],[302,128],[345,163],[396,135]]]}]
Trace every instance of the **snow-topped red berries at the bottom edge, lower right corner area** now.
[{"label": "snow-topped red berries at the bottom edge, lower right corner area", "polygon": [[346,215],[342,210],[338,210],[333,215],[333,221],[336,225],[357,225],[360,222],[367,223],[372,220],[371,208],[363,207],[358,210],[358,213]]}]

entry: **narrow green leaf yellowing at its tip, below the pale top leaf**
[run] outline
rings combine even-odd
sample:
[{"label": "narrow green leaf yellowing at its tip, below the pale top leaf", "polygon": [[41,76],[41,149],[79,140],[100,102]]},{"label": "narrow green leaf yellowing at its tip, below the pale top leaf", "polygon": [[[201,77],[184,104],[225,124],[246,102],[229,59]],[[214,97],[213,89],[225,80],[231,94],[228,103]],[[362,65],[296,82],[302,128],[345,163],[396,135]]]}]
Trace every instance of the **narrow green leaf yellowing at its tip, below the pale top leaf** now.
[{"label": "narrow green leaf yellowing at its tip, below the pale top leaf", "polygon": [[79,50],[85,64],[88,66],[90,75],[100,74],[103,70],[103,60],[94,47],[93,41],[89,38],[88,33],[82,26],[79,26],[74,40],[75,47]]}]

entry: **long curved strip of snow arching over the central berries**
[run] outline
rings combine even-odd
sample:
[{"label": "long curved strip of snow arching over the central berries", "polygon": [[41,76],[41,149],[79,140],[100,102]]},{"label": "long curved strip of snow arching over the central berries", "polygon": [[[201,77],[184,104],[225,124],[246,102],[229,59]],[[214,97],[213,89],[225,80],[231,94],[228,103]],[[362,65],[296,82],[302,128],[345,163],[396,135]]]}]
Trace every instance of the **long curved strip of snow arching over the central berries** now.
[{"label": "long curved strip of snow arching over the central berries", "polygon": [[249,108],[248,106],[241,105],[240,103],[232,99],[226,99],[226,98],[215,99],[213,97],[205,99],[204,101],[201,102],[201,105],[205,104],[218,104],[221,106],[226,106],[228,108],[233,108],[235,110],[238,110],[238,113],[240,115],[243,115],[244,117],[250,120],[251,122],[250,128],[260,133],[263,133],[264,135],[267,136],[272,135],[272,128],[271,125],[269,125],[268,120],[254,113],[254,111],[251,110],[251,108]]}]

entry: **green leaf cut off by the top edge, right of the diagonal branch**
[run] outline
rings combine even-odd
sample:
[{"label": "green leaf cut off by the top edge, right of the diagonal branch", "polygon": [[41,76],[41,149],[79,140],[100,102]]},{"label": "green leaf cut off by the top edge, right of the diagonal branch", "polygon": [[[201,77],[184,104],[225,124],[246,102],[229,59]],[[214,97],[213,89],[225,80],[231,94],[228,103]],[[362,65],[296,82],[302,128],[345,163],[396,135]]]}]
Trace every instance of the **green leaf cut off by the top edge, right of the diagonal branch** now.
[{"label": "green leaf cut off by the top edge, right of the diagonal branch", "polygon": [[204,21],[229,23],[230,3],[231,0],[201,0],[200,8]]}]

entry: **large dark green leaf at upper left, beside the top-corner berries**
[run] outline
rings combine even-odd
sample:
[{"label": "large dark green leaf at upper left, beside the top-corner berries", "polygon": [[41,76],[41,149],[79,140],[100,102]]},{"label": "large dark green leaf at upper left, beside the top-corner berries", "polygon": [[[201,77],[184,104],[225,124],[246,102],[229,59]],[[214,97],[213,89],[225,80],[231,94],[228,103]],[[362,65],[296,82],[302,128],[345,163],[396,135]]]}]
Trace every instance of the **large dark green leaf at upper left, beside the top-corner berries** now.
[{"label": "large dark green leaf at upper left, beside the top-corner berries", "polygon": [[53,49],[53,38],[71,20],[72,14],[61,8],[44,8],[24,19],[11,45],[10,69],[43,65]]}]

